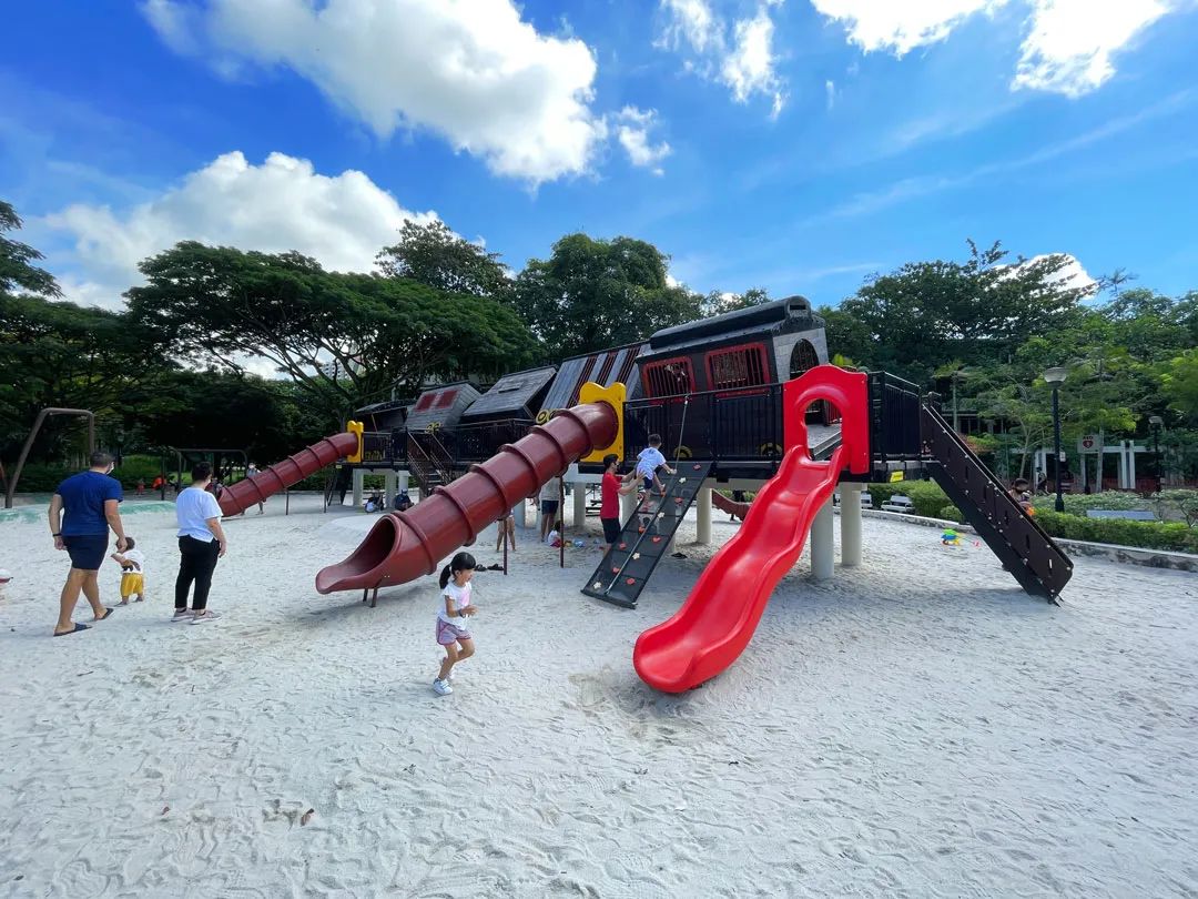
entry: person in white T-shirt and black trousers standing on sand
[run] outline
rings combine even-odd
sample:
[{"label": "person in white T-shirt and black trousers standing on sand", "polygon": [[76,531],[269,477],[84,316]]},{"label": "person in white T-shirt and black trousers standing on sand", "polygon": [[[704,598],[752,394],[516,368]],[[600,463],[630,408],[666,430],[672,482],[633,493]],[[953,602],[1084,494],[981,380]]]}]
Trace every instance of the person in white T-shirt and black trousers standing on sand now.
[{"label": "person in white T-shirt and black trousers standing on sand", "polygon": [[[179,520],[179,577],[175,579],[174,622],[200,625],[220,617],[208,608],[208,590],[217,560],[229,550],[224,529],[220,527],[220,503],[208,491],[212,466],[201,461],[192,469],[192,485],[175,500]],[[187,596],[195,585],[192,608]]]}]

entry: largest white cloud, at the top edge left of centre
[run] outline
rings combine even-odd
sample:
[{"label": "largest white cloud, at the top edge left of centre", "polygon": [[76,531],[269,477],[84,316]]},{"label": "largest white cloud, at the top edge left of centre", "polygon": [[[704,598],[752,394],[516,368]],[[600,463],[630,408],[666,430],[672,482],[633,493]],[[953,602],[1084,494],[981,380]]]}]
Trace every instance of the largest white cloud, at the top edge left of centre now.
[{"label": "largest white cloud, at the top edge left of centre", "polygon": [[512,0],[147,0],[143,12],[223,74],[285,66],[380,137],[426,129],[500,175],[585,173],[607,137],[591,108],[594,54],[538,34]]}]

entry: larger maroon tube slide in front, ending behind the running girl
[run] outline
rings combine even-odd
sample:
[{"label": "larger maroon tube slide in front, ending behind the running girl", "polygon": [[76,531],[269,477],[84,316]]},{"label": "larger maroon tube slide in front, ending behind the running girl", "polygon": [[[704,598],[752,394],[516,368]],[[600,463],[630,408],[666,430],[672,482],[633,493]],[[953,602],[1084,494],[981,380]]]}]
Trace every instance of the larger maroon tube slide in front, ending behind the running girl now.
[{"label": "larger maroon tube slide in front, ending behind the running girl", "polygon": [[612,445],[618,432],[616,409],[606,402],[558,412],[411,509],[383,515],[349,559],[321,569],[317,592],[370,590],[434,574],[441,559],[473,543],[580,457]]}]

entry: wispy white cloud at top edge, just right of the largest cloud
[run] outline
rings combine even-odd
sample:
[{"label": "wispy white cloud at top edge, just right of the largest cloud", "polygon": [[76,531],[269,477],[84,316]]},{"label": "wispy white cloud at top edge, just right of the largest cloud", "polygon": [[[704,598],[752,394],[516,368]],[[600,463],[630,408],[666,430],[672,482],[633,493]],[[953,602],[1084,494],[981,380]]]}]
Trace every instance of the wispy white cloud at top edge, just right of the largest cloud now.
[{"label": "wispy white cloud at top edge, just right of the largest cloud", "polygon": [[686,71],[726,84],[738,103],[757,93],[769,97],[776,116],[786,104],[786,85],[776,71],[770,8],[781,1],[761,0],[752,17],[728,22],[707,0],[660,0],[666,25],[655,46],[689,50]]}]

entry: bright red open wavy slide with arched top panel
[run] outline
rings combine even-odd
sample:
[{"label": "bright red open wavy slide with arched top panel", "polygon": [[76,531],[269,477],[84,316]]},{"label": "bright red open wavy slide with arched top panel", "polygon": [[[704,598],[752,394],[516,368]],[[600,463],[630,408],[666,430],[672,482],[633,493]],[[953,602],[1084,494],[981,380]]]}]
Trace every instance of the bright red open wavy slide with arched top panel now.
[{"label": "bright red open wavy slide with arched top panel", "polygon": [[[636,672],[664,693],[697,687],[737,659],[778,581],[798,561],[841,470],[869,471],[866,375],[818,366],[783,390],[787,451],[778,475],[754,499],[744,524],[712,557],[682,608],[636,640]],[[828,461],[807,453],[803,414],[813,399],[831,399],[843,415],[843,439]]]}]

